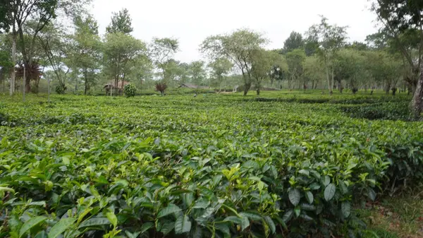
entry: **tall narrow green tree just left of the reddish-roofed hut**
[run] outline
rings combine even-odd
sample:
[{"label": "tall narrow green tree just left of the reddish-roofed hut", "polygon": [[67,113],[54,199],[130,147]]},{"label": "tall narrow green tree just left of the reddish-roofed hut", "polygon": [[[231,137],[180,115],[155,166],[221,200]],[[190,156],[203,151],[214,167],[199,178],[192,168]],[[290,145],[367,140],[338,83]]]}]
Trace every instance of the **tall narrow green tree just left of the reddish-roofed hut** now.
[{"label": "tall narrow green tree just left of the reddish-roofed hut", "polygon": [[99,68],[100,38],[97,21],[92,16],[75,17],[75,52],[73,53],[73,67],[84,79],[84,94],[94,84],[96,71]]}]

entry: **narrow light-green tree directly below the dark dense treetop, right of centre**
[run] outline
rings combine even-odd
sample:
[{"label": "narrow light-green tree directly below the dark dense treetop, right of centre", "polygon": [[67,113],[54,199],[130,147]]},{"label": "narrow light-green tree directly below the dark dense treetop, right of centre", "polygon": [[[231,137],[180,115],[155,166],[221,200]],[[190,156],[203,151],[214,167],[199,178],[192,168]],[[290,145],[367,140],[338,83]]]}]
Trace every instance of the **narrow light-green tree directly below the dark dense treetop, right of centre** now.
[{"label": "narrow light-green tree directly below the dark dense treetop, right of centre", "polygon": [[302,77],[303,65],[305,61],[305,52],[303,49],[294,49],[286,54],[288,64],[288,88],[293,90],[294,82]]}]

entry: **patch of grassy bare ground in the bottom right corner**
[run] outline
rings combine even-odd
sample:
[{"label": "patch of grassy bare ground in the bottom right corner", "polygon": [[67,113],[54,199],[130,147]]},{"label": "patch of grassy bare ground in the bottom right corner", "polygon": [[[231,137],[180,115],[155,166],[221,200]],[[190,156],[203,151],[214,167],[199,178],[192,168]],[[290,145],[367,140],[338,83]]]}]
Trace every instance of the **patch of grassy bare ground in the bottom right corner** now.
[{"label": "patch of grassy bare ground in the bottom right corner", "polygon": [[[420,187],[421,188],[421,187]],[[420,238],[423,237],[422,191],[414,195],[387,197],[377,203],[368,203],[358,212],[379,237]]]}]

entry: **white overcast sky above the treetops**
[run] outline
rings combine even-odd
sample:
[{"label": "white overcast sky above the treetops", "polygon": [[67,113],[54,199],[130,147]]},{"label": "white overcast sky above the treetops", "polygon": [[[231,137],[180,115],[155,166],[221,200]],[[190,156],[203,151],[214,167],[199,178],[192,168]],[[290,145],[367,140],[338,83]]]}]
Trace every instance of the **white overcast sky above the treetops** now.
[{"label": "white overcast sky above the treetops", "polygon": [[319,14],[348,25],[349,41],[364,41],[376,31],[368,0],[94,0],[91,13],[100,33],[122,8],[133,19],[134,37],[176,37],[176,59],[185,62],[202,59],[198,47],[205,37],[238,28],[263,32],[271,41],[266,48],[281,48],[293,30],[304,33],[319,23]]}]

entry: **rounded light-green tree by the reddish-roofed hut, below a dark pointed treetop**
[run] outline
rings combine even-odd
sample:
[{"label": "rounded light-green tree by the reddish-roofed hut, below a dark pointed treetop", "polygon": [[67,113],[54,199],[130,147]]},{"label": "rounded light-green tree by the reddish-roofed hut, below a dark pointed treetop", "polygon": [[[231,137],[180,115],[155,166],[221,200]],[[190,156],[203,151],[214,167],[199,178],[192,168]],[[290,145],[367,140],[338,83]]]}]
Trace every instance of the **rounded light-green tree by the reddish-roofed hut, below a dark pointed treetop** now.
[{"label": "rounded light-green tree by the reddish-roofed hut, below a dark pointed treetop", "polygon": [[125,81],[125,76],[133,69],[128,65],[145,54],[146,47],[144,42],[117,32],[106,35],[103,50],[106,74],[114,78],[115,94],[117,94],[118,81]]}]

